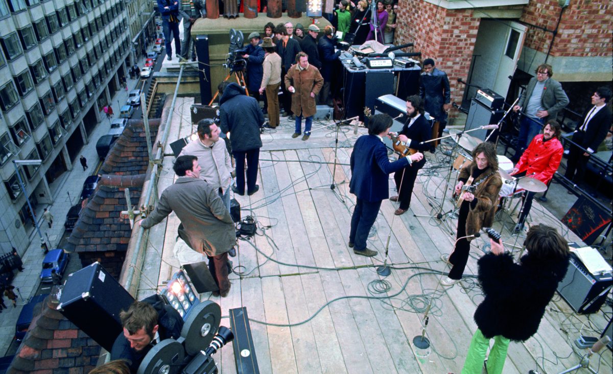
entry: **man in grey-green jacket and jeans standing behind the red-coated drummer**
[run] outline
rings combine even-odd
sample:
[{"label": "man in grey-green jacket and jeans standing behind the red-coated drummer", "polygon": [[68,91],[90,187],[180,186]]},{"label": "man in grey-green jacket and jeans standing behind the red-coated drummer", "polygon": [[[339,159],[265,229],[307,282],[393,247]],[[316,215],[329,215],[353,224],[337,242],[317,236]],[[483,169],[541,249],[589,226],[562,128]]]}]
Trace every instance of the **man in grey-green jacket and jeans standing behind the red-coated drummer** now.
[{"label": "man in grey-green jacket and jeans standing behind the red-coated drummer", "polygon": [[568,105],[568,96],[560,82],[551,78],[552,75],[554,71],[551,65],[539,65],[536,68],[536,77],[530,79],[517,105],[513,107],[514,112],[522,112],[513,162],[519,160],[528,144],[541,132],[545,121],[555,120],[558,112]]}]

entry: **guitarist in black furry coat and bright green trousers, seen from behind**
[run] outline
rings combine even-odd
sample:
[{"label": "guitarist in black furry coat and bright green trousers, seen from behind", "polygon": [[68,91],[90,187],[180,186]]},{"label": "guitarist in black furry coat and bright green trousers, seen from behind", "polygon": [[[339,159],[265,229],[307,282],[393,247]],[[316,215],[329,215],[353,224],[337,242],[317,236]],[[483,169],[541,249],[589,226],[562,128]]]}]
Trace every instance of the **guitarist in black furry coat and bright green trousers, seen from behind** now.
[{"label": "guitarist in black furry coat and bright green trousers, seen from behind", "polygon": [[[490,241],[492,251],[477,262],[485,299],[474,312],[478,329],[466,354],[462,373],[501,373],[509,342],[525,342],[538,330],[545,308],[568,269],[568,243],[553,227],[530,227],[519,264],[501,243]],[[490,345],[487,362],[485,353]]]}]

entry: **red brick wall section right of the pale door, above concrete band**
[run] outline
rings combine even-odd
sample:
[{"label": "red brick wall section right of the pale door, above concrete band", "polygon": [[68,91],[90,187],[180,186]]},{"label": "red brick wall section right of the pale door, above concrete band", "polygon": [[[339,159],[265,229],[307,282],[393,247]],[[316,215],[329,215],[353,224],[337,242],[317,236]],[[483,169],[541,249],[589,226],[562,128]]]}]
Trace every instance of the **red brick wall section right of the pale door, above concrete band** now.
[{"label": "red brick wall section right of the pale door, above concrete band", "polygon": [[[553,31],[560,16],[557,0],[530,1],[521,21]],[[611,1],[573,0],[562,12],[550,55],[556,57],[612,56]],[[528,26],[525,46],[547,53],[553,33]]]}]

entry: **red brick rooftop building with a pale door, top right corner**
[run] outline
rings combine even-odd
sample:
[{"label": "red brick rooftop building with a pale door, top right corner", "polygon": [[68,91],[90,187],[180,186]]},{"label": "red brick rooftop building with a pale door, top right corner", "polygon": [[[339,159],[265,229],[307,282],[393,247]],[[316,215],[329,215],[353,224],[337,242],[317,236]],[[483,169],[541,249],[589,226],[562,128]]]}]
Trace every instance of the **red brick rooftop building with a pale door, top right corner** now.
[{"label": "red brick rooftop building with a pale door, top right corner", "polygon": [[546,62],[563,82],[569,108],[581,111],[593,89],[613,79],[611,2],[560,2],[399,0],[395,44],[413,42],[422,58],[434,58],[449,75],[452,101],[458,104],[465,95],[458,78],[512,102],[519,84]]}]

